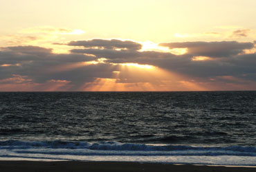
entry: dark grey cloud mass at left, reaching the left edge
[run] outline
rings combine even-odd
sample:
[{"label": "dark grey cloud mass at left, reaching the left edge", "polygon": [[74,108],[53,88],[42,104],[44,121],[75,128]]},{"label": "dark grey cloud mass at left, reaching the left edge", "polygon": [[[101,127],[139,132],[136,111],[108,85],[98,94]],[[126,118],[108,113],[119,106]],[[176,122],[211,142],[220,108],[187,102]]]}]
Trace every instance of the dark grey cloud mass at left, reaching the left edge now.
[{"label": "dark grey cloud mass at left, reaching the left edge", "polygon": [[[67,80],[67,77],[76,82],[75,80],[83,80],[82,75],[86,76],[80,74],[82,71],[79,67],[94,60],[95,57],[84,54],[54,54],[51,49],[44,47],[6,47],[0,52],[0,79],[20,75],[37,83],[52,79]],[[69,73],[62,69],[72,65],[73,67],[68,68]]]}]

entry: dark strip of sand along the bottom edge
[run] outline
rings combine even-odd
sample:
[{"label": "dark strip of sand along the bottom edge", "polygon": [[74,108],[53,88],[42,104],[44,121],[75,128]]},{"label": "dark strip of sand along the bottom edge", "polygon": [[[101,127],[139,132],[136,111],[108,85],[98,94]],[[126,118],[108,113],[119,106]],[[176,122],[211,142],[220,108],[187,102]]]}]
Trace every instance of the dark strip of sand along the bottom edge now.
[{"label": "dark strip of sand along the bottom edge", "polygon": [[35,161],[0,161],[1,172],[96,172],[96,171],[175,171],[175,172],[207,172],[207,171],[256,171],[256,168],[226,166],[174,165],[138,162],[35,162]]}]

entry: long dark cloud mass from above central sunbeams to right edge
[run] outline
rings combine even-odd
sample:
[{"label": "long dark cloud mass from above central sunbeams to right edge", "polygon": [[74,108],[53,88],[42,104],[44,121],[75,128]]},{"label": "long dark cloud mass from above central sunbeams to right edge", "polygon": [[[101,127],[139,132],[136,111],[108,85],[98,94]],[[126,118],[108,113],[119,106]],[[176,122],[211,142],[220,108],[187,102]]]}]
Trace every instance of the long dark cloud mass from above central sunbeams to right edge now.
[{"label": "long dark cloud mass from above central sunbeams to right edge", "polygon": [[[128,51],[109,49],[74,49],[73,53],[93,54],[96,58],[107,58],[108,63],[139,63],[162,67],[192,78],[255,73],[256,54],[242,54],[253,48],[253,43],[237,41],[161,43],[170,48],[188,48],[188,53],[175,55],[167,52]],[[194,61],[196,57],[205,57]],[[256,78],[253,78],[256,80]]]}]

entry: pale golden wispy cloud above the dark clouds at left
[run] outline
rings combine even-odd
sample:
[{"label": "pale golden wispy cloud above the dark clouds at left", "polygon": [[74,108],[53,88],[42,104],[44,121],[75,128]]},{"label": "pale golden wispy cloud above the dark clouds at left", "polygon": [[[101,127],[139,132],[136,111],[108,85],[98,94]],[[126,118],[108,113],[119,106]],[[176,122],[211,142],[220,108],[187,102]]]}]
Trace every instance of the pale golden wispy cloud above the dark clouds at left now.
[{"label": "pale golden wispy cloud above the dark clouds at left", "polygon": [[[19,45],[33,45],[39,47],[52,48],[56,53],[68,53],[70,46],[58,43],[70,41],[71,37],[80,37],[84,34],[83,30],[70,28],[55,28],[52,26],[39,26],[34,28],[24,28],[19,30],[17,34],[0,35],[0,47],[13,47]],[[68,49],[69,48],[69,49]]]}]

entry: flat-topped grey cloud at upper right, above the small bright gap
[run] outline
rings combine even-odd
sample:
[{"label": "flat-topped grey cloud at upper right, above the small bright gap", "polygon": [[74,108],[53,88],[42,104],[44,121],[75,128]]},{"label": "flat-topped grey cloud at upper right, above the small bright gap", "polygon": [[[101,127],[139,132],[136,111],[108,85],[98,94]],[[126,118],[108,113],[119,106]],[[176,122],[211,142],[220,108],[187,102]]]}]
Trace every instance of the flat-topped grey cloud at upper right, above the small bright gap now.
[{"label": "flat-topped grey cloud at upper right, above the small bright gap", "polygon": [[193,56],[228,57],[237,55],[243,50],[253,48],[253,43],[239,43],[237,41],[221,42],[183,42],[160,43],[160,46],[172,48],[188,48],[188,54]]}]

